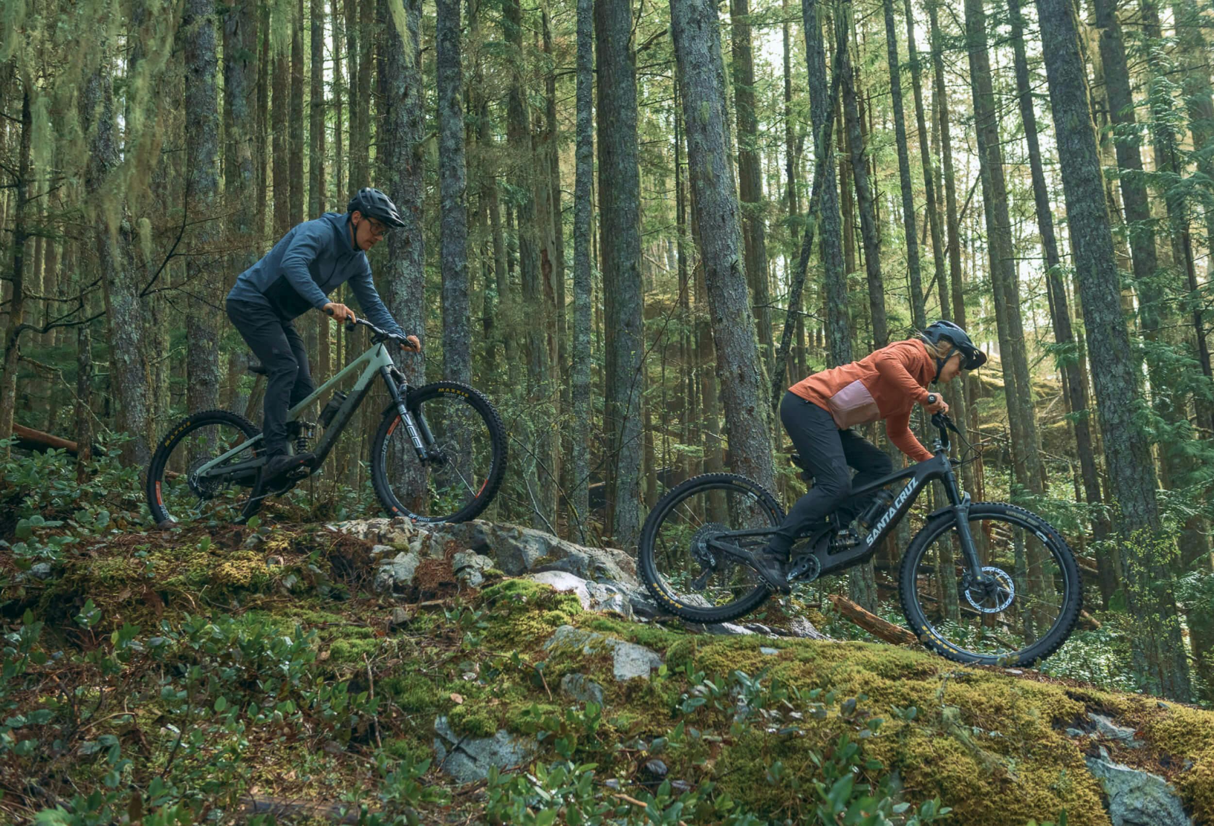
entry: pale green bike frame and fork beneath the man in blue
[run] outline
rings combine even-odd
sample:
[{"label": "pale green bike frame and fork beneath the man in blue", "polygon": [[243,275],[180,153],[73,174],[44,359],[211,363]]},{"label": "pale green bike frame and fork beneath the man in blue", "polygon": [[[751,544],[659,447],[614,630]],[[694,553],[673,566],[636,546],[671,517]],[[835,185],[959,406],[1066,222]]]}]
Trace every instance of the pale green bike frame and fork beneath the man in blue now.
[{"label": "pale green bike frame and fork beneath the man in blue", "polygon": [[[409,394],[409,385],[404,380],[404,375],[402,375],[396,368],[396,363],[392,361],[392,356],[388,353],[387,347],[382,341],[373,344],[367,352],[346,364],[331,379],[317,387],[311,396],[288,411],[287,420],[299,420],[300,415],[312,402],[323,396],[330,389],[335,387],[344,379],[356,373],[358,373],[358,379],[354,381],[350,395],[346,396],[341,407],[337,408],[337,412],[329,422],[329,426],[324,429],[320,441],[316,443],[316,448],[313,451],[313,453],[316,453],[316,460],[313,465],[320,466],[324,458],[329,454],[329,451],[333,449],[333,445],[337,441],[337,436],[341,435],[341,431],[350,423],[350,418],[353,415],[354,411],[358,409],[358,406],[363,403],[367,394],[370,392],[371,381],[375,379],[376,374],[382,377],[384,384],[387,385],[388,392],[392,396],[392,404],[396,407],[405,424],[409,439],[413,442],[413,449],[418,452],[418,458],[422,462],[427,462],[430,459],[430,453],[426,445],[433,442],[433,436],[431,436],[430,429],[426,426],[425,422],[415,420],[414,415],[409,412],[405,404],[405,398]],[[422,442],[422,435],[425,436],[425,442]],[[239,462],[234,465],[227,466],[225,466],[223,463],[244,451],[255,448],[262,439],[263,435],[257,434],[253,439],[240,442],[232,449],[215,457],[199,468],[198,475],[200,477],[229,476],[232,474],[239,474],[260,468],[266,464],[265,457],[246,459],[245,462]]]}]

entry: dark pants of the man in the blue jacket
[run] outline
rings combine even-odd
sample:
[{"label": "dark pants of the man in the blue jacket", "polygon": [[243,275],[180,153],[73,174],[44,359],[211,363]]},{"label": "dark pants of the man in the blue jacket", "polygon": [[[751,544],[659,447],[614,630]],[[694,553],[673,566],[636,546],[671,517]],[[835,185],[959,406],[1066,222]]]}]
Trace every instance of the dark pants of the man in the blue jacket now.
[{"label": "dark pants of the man in the blue jacket", "polygon": [[267,370],[261,431],[266,453],[287,452],[287,411],[312,395],[316,385],[304,339],[289,321],[248,301],[228,301],[228,318]]}]

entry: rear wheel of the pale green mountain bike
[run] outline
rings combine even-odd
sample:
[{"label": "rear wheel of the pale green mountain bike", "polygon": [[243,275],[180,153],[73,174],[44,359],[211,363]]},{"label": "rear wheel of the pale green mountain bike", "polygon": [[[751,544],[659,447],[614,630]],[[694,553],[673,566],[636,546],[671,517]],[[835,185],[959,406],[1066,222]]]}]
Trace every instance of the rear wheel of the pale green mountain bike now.
[{"label": "rear wheel of the pale green mountain bike", "polygon": [[261,505],[256,498],[257,470],[233,476],[199,476],[211,459],[244,445],[225,460],[232,466],[260,456],[261,431],[243,415],[229,411],[203,411],[187,415],[161,439],[147,475],[147,500],[159,526],[181,522],[243,522]]}]

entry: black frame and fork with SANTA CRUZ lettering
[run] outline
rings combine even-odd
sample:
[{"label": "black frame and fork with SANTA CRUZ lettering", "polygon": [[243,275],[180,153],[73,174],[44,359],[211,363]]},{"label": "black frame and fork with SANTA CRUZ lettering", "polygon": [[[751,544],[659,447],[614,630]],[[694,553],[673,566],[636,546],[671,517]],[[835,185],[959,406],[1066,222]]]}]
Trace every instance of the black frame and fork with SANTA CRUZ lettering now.
[{"label": "black frame and fork with SANTA CRUZ lettering", "polygon": [[[977,547],[975,545],[974,536],[970,532],[970,494],[963,493],[958,488],[957,475],[953,473],[953,465],[948,458],[948,442],[943,439],[936,440],[932,458],[892,473],[889,476],[878,479],[868,485],[863,485],[852,491],[852,496],[863,497],[877,491],[878,488],[903,479],[908,480],[906,486],[898,492],[897,497],[890,504],[889,509],[886,509],[885,514],[877,520],[872,530],[858,544],[846,548],[839,553],[830,553],[830,533],[835,528],[833,526],[818,527],[800,537],[810,538],[811,543],[810,550],[802,551],[799,556],[804,554],[812,554],[817,558],[817,577],[836,573],[855,565],[860,565],[877,553],[881,539],[884,539],[885,536],[902,521],[902,517],[910,509],[910,505],[915,503],[915,499],[918,499],[919,494],[926,488],[926,483],[932,480],[938,480],[944,488],[944,494],[948,497],[949,504],[934,510],[927,515],[927,519],[937,519],[948,513],[955,514],[958,539],[960,541],[961,553],[965,558],[966,566],[969,567],[969,573],[974,582],[982,583],[986,577],[982,573],[982,562],[978,559]],[[709,539],[708,545],[709,548],[724,551],[731,556],[749,559],[749,553],[727,539],[733,537],[767,537],[772,533],[775,533],[773,528],[728,531]]]}]

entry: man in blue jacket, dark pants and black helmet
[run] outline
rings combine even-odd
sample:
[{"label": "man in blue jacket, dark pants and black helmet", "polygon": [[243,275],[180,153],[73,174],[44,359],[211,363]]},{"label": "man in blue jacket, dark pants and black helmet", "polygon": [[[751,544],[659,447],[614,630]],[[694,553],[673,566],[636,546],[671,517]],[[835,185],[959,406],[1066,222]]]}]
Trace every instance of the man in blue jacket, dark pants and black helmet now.
[{"label": "man in blue jacket, dark pants and black helmet", "polygon": [[[228,293],[228,318],[268,378],[262,419],[268,458],[263,479],[279,476],[314,458],[311,453],[287,454],[287,412],[314,390],[307,350],[291,321],[308,309],[325,312],[339,323],[354,321],[350,307],[328,298],[348,281],[358,306],[376,327],[404,335],[375,292],[367,260],[367,250],[382,241],[391,227],[399,226],[404,221],[386,194],[370,187],[359,189],[345,214],[325,213],[295,226],[260,261],[242,272]],[[401,349],[419,352],[421,343],[409,335]]]}]

